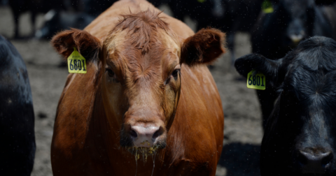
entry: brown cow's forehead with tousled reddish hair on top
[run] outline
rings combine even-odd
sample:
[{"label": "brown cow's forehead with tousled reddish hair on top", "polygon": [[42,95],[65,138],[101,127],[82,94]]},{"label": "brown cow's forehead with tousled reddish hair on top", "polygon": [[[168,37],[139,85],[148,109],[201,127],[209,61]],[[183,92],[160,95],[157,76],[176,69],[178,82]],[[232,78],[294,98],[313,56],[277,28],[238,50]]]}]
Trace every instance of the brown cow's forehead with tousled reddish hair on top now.
[{"label": "brown cow's forehead with tousled reddish hair on top", "polygon": [[181,41],[159,15],[151,10],[124,15],[104,41],[106,63],[112,62],[132,85],[161,85],[179,64]]}]

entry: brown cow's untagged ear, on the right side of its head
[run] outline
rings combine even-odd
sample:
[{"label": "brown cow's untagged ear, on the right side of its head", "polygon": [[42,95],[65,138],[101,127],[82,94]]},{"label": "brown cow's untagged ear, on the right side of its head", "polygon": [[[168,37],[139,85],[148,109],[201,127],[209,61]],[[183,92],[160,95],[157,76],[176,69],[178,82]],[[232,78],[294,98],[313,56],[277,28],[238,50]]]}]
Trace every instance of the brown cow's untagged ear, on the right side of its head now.
[{"label": "brown cow's untagged ear, on the right side of its head", "polygon": [[183,42],[181,63],[209,64],[225,53],[224,43],[225,33],[218,29],[201,29]]}]

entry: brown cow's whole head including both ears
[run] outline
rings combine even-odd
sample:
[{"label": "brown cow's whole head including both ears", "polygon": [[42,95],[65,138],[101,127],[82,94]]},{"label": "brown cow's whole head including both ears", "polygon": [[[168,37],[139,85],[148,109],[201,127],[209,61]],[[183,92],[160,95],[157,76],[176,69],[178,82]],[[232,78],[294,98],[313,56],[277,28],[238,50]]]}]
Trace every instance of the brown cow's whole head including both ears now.
[{"label": "brown cow's whole head including both ears", "polygon": [[88,61],[102,65],[106,116],[123,147],[165,147],[182,74],[187,74],[181,67],[208,64],[225,52],[221,31],[202,29],[182,39],[159,14],[147,10],[123,15],[104,41],[76,29],[52,39],[64,57],[76,46]]}]

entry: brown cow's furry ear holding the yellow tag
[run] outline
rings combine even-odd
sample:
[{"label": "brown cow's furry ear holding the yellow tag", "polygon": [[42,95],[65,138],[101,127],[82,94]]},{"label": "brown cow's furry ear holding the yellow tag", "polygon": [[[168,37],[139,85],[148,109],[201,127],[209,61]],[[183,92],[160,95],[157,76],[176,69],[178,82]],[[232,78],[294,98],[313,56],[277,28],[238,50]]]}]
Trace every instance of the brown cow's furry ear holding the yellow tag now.
[{"label": "brown cow's furry ear holding the yellow tag", "polygon": [[73,47],[76,47],[87,62],[99,59],[99,52],[102,50],[102,43],[98,38],[79,29],[59,32],[52,37],[51,45],[65,59],[73,52]]}]

